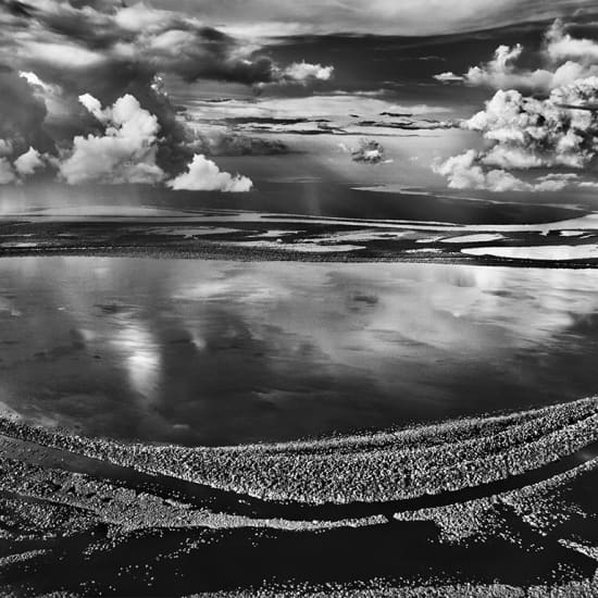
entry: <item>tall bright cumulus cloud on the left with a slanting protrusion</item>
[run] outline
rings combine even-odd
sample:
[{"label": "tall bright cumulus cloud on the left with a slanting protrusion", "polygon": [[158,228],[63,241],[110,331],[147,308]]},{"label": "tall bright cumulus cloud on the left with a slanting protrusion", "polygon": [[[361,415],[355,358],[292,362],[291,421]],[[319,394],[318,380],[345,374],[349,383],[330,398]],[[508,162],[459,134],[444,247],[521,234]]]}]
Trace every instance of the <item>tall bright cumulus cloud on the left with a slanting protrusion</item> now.
[{"label": "tall bright cumulus cloud on the left with a slanting protrusion", "polygon": [[165,176],[155,163],[158,119],[130,95],[102,109],[90,95],[82,104],[102,124],[99,135],[77,136],[60,175],[71,185],[79,183],[158,183]]}]

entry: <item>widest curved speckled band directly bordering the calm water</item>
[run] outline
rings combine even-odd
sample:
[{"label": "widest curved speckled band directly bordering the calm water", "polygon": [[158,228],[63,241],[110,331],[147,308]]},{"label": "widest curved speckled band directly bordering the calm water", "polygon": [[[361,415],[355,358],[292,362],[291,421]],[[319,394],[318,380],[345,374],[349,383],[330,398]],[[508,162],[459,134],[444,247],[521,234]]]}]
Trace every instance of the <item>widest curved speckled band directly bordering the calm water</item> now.
[{"label": "widest curved speckled band directly bordering the calm water", "polygon": [[91,439],[0,421],[7,436],[264,500],[414,499],[506,479],[598,440],[598,398],[324,440],[186,448]]}]

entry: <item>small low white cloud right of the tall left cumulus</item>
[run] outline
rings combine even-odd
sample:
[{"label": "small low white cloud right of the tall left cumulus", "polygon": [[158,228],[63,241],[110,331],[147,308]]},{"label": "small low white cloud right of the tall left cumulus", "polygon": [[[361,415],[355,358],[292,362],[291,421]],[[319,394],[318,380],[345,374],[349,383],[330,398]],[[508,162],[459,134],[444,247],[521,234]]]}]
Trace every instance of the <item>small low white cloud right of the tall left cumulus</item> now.
[{"label": "small low white cloud right of the tall left cumulus", "polygon": [[166,183],[175,190],[247,192],[253,184],[246,176],[222,172],[217,165],[203,154],[196,154],[187,172]]}]

